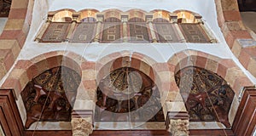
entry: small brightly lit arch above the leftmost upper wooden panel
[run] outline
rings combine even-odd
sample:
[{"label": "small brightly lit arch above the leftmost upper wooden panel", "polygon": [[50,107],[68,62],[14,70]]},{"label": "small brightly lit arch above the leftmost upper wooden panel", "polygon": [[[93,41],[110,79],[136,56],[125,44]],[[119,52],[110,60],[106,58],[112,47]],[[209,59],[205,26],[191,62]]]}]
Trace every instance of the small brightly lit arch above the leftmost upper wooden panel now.
[{"label": "small brightly lit arch above the leftmost upper wooden panel", "polygon": [[73,12],[75,10],[64,8],[54,12],[54,16],[52,18],[53,22],[65,22],[65,21],[72,21],[73,20]]}]

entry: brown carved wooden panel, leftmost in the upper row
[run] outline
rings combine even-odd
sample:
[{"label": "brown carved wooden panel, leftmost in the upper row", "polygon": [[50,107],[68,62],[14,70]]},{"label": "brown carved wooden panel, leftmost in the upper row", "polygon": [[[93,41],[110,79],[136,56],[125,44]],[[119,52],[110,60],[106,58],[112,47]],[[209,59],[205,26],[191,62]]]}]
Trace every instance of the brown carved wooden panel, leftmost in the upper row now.
[{"label": "brown carved wooden panel, leftmost in the upper row", "polygon": [[70,23],[52,22],[49,24],[40,42],[64,42]]}]

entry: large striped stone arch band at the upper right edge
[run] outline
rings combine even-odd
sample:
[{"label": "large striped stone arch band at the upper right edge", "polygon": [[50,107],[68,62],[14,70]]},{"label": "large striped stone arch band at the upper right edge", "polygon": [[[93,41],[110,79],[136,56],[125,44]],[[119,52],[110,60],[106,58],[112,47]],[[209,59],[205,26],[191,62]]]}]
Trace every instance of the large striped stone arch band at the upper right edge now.
[{"label": "large striped stone arch band at the upper right edge", "polygon": [[255,38],[253,39],[242,23],[237,1],[218,0],[215,4],[218,26],[224,34],[225,41],[241,65],[256,77],[256,61],[253,59],[253,53],[256,51],[256,48],[253,48]]}]

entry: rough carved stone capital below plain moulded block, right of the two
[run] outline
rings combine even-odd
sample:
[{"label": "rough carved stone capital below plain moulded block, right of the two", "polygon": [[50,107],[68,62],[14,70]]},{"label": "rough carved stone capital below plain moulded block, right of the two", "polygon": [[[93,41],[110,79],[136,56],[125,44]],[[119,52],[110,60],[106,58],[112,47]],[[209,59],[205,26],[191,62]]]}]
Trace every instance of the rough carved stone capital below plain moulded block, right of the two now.
[{"label": "rough carved stone capital below plain moulded block, right of the two", "polygon": [[168,131],[172,136],[188,136],[189,120],[171,119]]}]

